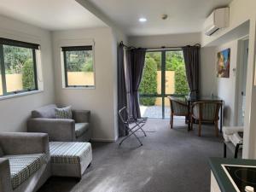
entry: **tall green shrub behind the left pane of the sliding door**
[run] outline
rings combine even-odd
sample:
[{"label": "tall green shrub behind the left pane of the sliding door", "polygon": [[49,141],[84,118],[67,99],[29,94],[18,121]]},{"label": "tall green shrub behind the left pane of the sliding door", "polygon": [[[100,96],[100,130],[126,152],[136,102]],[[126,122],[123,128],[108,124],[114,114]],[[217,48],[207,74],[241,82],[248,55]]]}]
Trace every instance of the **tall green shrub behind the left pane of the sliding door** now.
[{"label": "tall green shrub behind the left pane of the sliding door", "polygon": [[[151,57],[146,57],[143,69],[143,79],[139,88],[140,94],[157,93],[157,63]],[[154,106],[155,97],[141,97],[140,103],[145,106]]]}]

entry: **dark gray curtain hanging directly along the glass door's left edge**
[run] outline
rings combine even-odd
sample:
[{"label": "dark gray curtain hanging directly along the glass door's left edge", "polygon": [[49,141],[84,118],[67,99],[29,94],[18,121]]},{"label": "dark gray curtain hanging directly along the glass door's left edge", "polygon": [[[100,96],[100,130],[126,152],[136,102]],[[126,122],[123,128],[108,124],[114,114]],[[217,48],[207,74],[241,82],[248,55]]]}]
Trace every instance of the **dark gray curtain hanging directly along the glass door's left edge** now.
[{"label": "dark gray curtain hanging directly along the glass door's left edge", "polygon": [[146,49],[132,49],[132,116],[134,118],[141,118],[139,106],[139,85],[143,77],[143,68],[145,63]]}]

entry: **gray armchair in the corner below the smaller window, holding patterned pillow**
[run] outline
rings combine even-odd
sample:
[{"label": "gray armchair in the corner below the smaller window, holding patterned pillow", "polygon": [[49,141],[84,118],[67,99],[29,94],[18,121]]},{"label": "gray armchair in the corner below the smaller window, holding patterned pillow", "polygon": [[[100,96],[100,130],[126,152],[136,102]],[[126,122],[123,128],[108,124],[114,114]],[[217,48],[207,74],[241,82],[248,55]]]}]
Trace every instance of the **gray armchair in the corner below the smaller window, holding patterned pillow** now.
[{"label": "gray armchair in the corner below the smaller window, holding patterned pillow", "polygon": [[48,133],[50,142],[88,142],[91,138],[90,111],[73,110],[73,119],[56,119],[55,104],[32,111],[27,131]]}]

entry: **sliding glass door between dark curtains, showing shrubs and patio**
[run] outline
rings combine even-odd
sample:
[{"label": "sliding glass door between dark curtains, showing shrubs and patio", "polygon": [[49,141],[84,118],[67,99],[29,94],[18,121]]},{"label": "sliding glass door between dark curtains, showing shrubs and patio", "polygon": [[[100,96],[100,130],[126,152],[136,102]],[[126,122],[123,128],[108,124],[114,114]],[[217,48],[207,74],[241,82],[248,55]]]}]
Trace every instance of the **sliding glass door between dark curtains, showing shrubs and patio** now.
[{"label": "sliding glass door between dark curtains, showing shrubs and patio", "polygon": [[139,93],[143,117],[170,119],[167,96],[189,93],[182,50],[148,51]]}]

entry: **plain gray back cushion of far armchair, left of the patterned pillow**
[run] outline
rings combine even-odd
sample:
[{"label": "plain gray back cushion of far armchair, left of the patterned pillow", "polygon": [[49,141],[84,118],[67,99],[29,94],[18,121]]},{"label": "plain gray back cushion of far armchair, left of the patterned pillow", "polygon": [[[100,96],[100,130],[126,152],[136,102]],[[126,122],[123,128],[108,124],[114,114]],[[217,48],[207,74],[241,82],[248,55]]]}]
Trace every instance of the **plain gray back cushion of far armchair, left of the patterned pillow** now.
[{"label": "plain gray back cushion of far armchair, left of the patterned pillow", "polygon": [[55,104],[47,105],[32,111],[32,118],[55,118]]}]

